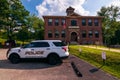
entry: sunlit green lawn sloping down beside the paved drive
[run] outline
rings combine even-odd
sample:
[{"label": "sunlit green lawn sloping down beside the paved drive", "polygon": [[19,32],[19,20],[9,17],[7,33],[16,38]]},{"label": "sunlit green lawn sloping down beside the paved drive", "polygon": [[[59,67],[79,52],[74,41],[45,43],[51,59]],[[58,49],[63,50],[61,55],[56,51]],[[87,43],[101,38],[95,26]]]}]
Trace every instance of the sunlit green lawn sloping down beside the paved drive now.
[{"label": "sunlit green lawn sloping down beside the paved drive", "polygon": [[[81,49],[82,52],[80,52],[79,49]],[[103,60],[101,58],[101,53],[103,50],[79,45],[70,45],[69,50],[71,54],[89,62],[98,68],[103,64]],[[107,56],[106,64],[101,69],[112,74],[113,76],[120,78],[120,52],[111,52],[109,50],[105,52]]]}]

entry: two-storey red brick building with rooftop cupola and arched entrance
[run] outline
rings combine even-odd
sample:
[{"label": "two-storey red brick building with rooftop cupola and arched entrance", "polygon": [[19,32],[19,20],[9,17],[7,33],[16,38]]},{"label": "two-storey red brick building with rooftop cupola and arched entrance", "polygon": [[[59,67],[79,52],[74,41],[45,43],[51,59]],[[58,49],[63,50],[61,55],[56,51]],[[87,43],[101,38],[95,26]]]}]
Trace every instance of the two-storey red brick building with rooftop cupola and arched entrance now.
[{"label": "two-storey red brick building with rooftop cupola and arched entrance", "polygon": [[66,9],[67,16],[43,16],[44,39],[79,44],[102,44],[102,17],[81,16],[74,8]]}]

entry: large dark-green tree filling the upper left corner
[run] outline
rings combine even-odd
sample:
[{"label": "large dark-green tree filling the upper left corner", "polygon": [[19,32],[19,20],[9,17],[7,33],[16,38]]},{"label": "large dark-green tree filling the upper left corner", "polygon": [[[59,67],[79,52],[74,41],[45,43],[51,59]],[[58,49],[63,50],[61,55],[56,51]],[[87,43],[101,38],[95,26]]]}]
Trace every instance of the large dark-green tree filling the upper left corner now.
[{"label": "large dark-green tree filling the upper left corner", "polygon": [[29,12],[20,0],[0,0],[0,4],[3,5],[0,7],[1,26],[7,30],[8,36],[12,37],[15,27],[25,25]]}]

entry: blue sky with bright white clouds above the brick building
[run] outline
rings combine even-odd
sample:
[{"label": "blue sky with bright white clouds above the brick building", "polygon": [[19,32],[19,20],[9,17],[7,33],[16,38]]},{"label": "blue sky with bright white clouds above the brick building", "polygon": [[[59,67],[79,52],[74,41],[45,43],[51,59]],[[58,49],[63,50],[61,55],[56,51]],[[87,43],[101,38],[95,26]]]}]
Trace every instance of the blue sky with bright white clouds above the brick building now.
[{"label": "blue sky with bright white clouds above the brick building", "polygon": [[80,15],[95,16],[102,6],[115,5],[120,7],[120,0],[21,0],[31,14],[66,15],[66,8],[72,6]]}]

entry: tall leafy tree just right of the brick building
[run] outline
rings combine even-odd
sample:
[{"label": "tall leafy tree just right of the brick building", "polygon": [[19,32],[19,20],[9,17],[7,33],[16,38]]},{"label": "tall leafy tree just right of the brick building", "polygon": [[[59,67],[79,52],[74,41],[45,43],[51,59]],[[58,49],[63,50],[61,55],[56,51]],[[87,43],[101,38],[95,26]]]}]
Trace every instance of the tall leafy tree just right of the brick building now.
[{"label": "tall leafy tree just right of the brick building", "polygon": [[111,38],[114,37],[118,25],[117,19],[120,17],[120,8],[117,6],[102,7],[97,12],[98,16],[104,16],[102,20],[104,42],[111,44]]}]

